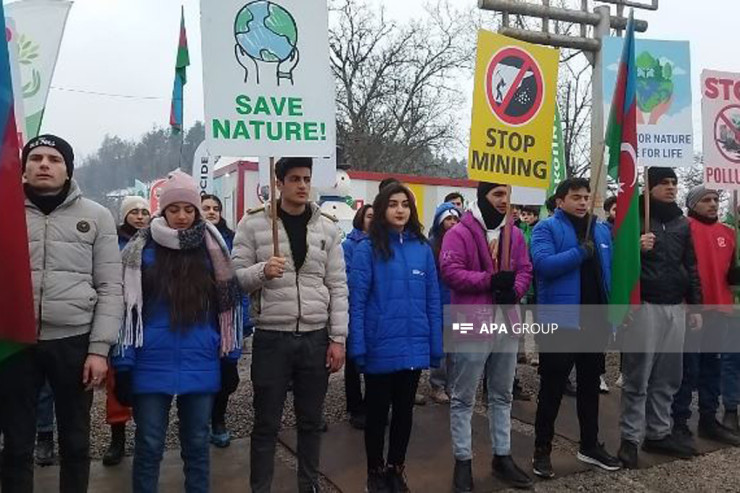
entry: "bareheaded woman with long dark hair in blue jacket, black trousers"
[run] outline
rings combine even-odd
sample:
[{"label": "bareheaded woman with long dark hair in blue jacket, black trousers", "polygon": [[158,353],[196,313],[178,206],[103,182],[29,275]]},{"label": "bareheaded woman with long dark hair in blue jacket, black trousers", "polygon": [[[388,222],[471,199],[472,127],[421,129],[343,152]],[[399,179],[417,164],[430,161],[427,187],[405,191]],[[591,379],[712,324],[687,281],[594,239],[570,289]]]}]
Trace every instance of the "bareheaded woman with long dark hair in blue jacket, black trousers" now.
[{"label": "bareheaded woman with long dark hair in blue jacket, black trousers", "polygon": [[[411,192],[383,188],[369,238],[352,257],[349,357],[365,375],[367,491],[409,491],[404,463],[421,370],[442,359],[442,310],[434,254]],[[388,410],[388,465],[383,460]]]}]

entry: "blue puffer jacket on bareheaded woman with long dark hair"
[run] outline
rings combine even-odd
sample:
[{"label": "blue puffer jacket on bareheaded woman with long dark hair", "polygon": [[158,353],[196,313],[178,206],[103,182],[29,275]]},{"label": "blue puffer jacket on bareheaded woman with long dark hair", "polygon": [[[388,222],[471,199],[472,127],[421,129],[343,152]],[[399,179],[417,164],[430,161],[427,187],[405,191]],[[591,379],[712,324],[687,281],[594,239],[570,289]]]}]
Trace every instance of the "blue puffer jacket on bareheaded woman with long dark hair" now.
[{"label": "blue puffer jacket on bareheaded woman with long dark hair", "polygon": [[391,233],[385,261],[362,241],[349,281],[348,353],[363,373],[437,367],[442,359],[442,309],[431,247]]}]

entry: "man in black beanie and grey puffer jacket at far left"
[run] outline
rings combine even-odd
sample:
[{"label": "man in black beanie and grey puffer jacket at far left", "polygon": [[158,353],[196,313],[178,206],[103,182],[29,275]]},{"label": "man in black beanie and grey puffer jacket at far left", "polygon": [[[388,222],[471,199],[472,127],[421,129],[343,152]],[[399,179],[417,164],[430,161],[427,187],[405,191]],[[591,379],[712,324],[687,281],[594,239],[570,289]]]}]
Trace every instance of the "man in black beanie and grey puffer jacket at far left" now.
[{"label": "man in black beanie and grey puffer jacket at far left", "polygon": [[82,197],[74,153],[42,135],[23,148],[26,224],[37,344],[0,364],[3,492],[33,491],[39,390],[48,379],[59,429],[59,490],[87,491],[90,407],[105,382],[123,315],[121,257],[113,216]]}]

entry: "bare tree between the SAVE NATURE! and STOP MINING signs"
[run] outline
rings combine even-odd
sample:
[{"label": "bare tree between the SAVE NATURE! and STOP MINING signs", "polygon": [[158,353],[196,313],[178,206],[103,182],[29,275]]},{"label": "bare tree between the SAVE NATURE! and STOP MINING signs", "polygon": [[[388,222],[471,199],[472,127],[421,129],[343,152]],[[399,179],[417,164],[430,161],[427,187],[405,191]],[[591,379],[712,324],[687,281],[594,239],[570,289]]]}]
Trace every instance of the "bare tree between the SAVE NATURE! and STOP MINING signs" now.
[{"label": "bare tree between the SAVE NATURE! and STOP MINING signs", "polygon": [[446,2],[407,24],[364,0],[334,3],[337,137],[353,167],[409,171],[428,152],[459,145],[465,98],[451,81],[472,69],[472,19]]}]

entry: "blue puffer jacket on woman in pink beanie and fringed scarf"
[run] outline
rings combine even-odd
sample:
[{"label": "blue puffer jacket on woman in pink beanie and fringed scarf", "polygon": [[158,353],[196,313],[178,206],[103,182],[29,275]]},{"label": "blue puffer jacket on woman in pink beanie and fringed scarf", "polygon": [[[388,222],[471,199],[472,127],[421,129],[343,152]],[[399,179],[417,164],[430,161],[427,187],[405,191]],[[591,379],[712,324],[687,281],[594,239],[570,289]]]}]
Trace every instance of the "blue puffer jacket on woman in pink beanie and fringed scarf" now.
[{"label": "blue puffer jacket on woman in pink beanie and fringed scarf", "polygon": [[[155,243],[143,252],[143,269],[156,261]],[[116,352],[118,372],[133,371],[134,394],[216,393],[221,389],[221,335],[215,314],[207,323],[173,330],[166,301],[144,299],[144,344]]]}]

